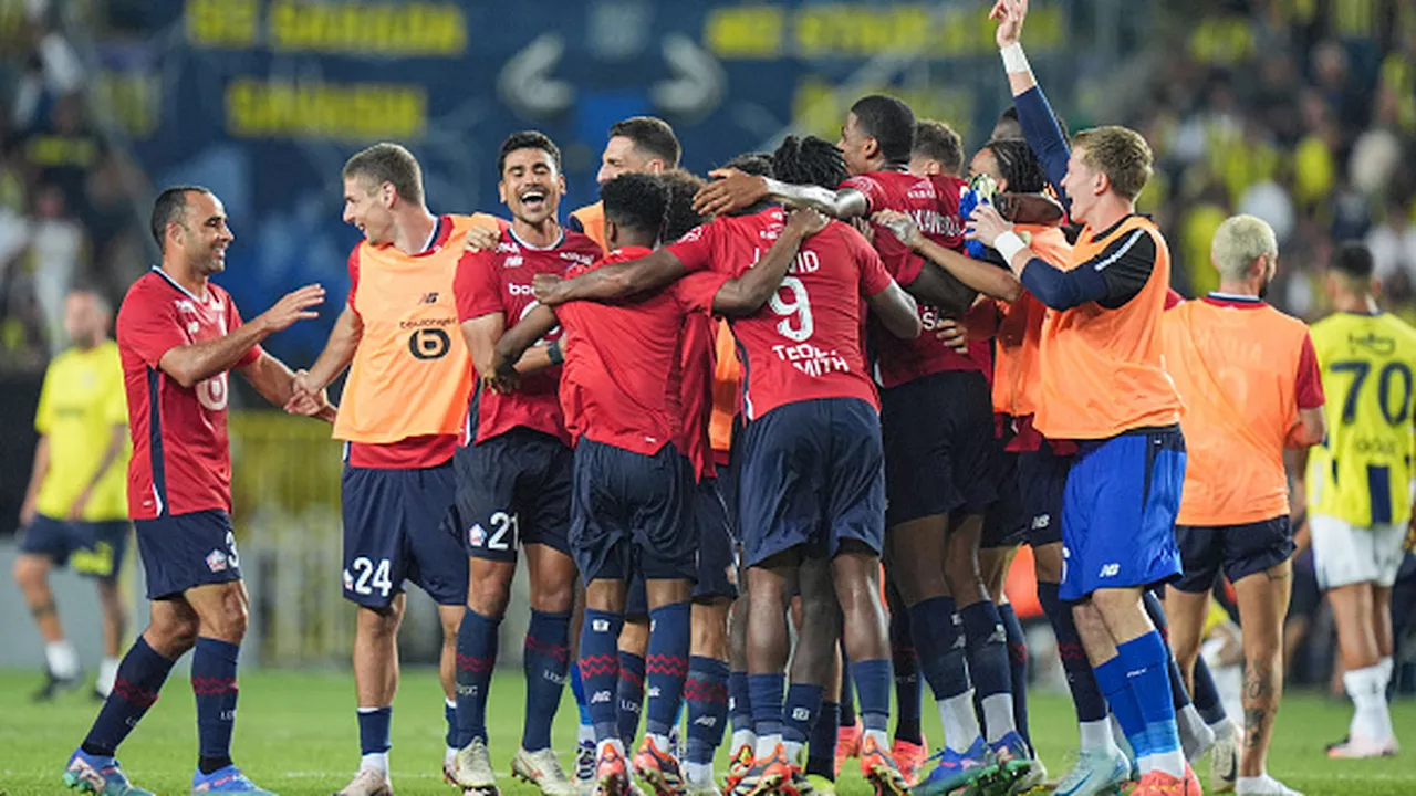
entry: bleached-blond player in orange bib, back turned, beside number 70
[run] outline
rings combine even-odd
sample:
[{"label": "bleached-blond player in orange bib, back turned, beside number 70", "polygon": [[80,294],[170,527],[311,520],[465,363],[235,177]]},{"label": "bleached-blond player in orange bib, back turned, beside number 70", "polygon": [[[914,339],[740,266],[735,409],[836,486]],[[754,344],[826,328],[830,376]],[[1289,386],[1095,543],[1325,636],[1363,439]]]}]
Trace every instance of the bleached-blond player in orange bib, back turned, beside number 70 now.
[{"label": "bleached-blond player in orange bib, back turned, beside number 70", "polygon": [[[1245,646],[1240,796],[1293,796],[1264,771],[1283,695],[1283,618],[1293,591],[1284,448],[1323,440],[1323,382],[1307,326],[1263,302],[1279,265],[1273,229],[1252,215],[1219,225],[1219,290],[1165,313],[1165,368],[1188,412],[1189,460],[1177,518],[1184,575],[1168,591],[1170,643],[1194,690],[1206,606],[1223,571]],[[1218,783],[1211,782],[1211,786]]]}]

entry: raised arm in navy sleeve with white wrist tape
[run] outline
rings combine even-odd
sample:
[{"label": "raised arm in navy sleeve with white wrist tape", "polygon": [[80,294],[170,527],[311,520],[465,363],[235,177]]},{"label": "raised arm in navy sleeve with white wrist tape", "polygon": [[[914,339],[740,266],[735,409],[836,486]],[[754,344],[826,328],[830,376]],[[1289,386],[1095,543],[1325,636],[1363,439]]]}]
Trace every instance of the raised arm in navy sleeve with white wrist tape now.
[{"label": "raised arm in navy sleeve with white wrist tape", "polygon": [[998,21],[994,31],[994,41],[1003,55],[1003,67],[1008,72],[1008,86],[1012,89],[1012,105],[1018,109],[1018,123],[1022,135],[1028,139],[1028,146],[1038,156],[1046,171],[1048,183],[1063,204],[1068,204],[1066,193],[1062,190],[1062,177],[1066,176],[1066,161],[1072,156],[1066,137],[1058,126],[1052,105],[1048,103],[1042,86],[1038,85],[1028,57],[1022,52],[1020,38],[1022,35],[1022,21],[1028,16],[1028,0],[998,0],[988,18]]}]

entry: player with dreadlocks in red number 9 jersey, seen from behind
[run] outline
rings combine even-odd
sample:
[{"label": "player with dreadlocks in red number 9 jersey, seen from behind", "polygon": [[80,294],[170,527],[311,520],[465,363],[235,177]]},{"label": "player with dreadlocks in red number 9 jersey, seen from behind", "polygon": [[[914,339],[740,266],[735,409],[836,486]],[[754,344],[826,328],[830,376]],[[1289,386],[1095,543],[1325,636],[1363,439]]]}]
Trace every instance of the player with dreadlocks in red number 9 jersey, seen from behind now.
[{"label": "player with dreadlocks in red number 9 jersey, seen from behind", "polygon": [[[835,156],[823,144],[787,142],[773,171],[797,178],[826,174]],[[566,282],[542,279],[538,297],[549,305],[610,300],[690,272],[752,273],[762,268],[752,263],[763,241],[790,229],[783,229],[783,217],[772,205],[719,217],[637,262]],[[882,449],[875,391],[861,353],[861,299],[885,329],[902,337],[919,333],[913,300],[885,273],[874,249],[850,227],[830,224],[801,246],[769,307],[732,320],[746,374],[738,518],[750,568],[748,666],[758,737],[753,769],[739,782],[743,792],[794,793],[803,786],[801,752],[820,710],[841,610],[867,724],[862,772],[882,792],[905,789],[885,738]],[[793,584],[809,615],[793,671],[811,676],[793,681],[783,710],[784,593]],[[840,608],[830,601],[833,588]]]}]

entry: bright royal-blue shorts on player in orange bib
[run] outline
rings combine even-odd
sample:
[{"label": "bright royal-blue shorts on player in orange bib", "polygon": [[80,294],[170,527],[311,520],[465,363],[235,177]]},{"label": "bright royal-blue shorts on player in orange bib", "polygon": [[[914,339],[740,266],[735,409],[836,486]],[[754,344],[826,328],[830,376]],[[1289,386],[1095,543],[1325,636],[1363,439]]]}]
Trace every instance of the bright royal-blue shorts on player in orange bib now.
[{"label": "bright royal-blue shorts on player in orange bib", "polygon": [[1175,516],[1185,486],[1180,426],[1083,442],[1062,500],[1062,589],[1153,586],[1180,576]]}]

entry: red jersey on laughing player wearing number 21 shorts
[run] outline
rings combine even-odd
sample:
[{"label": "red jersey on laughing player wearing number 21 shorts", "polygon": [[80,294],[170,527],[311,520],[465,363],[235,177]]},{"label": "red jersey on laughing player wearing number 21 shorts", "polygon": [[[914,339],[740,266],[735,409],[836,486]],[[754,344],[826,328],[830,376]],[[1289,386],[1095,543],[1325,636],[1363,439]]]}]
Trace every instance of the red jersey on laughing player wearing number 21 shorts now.
[{"label": "red jersey on laughing player wearing number 21 shorts", "polygon": [[[531,279],[537,273],[559,276],[572,265],[595,262],[602,254],[599,244],[579,232],[562,232],[555,245],[537,248],[523,242],[508,227],[494,249],[469,252],[457,263],[453,283],[457,322],[503,313],[506,327],[511,329],[538,305],[531,292]],[[545,341],[559,336],[561,330],[554,329],[545,336]],[[571,435],[565,429],[558,395],[559,382],[561,368],[552,367],[524,377],[517,390],[507,395],[479,385],[467,414],[463,445],[486,442],[517,426],[558,436],[569,445]]]}]

